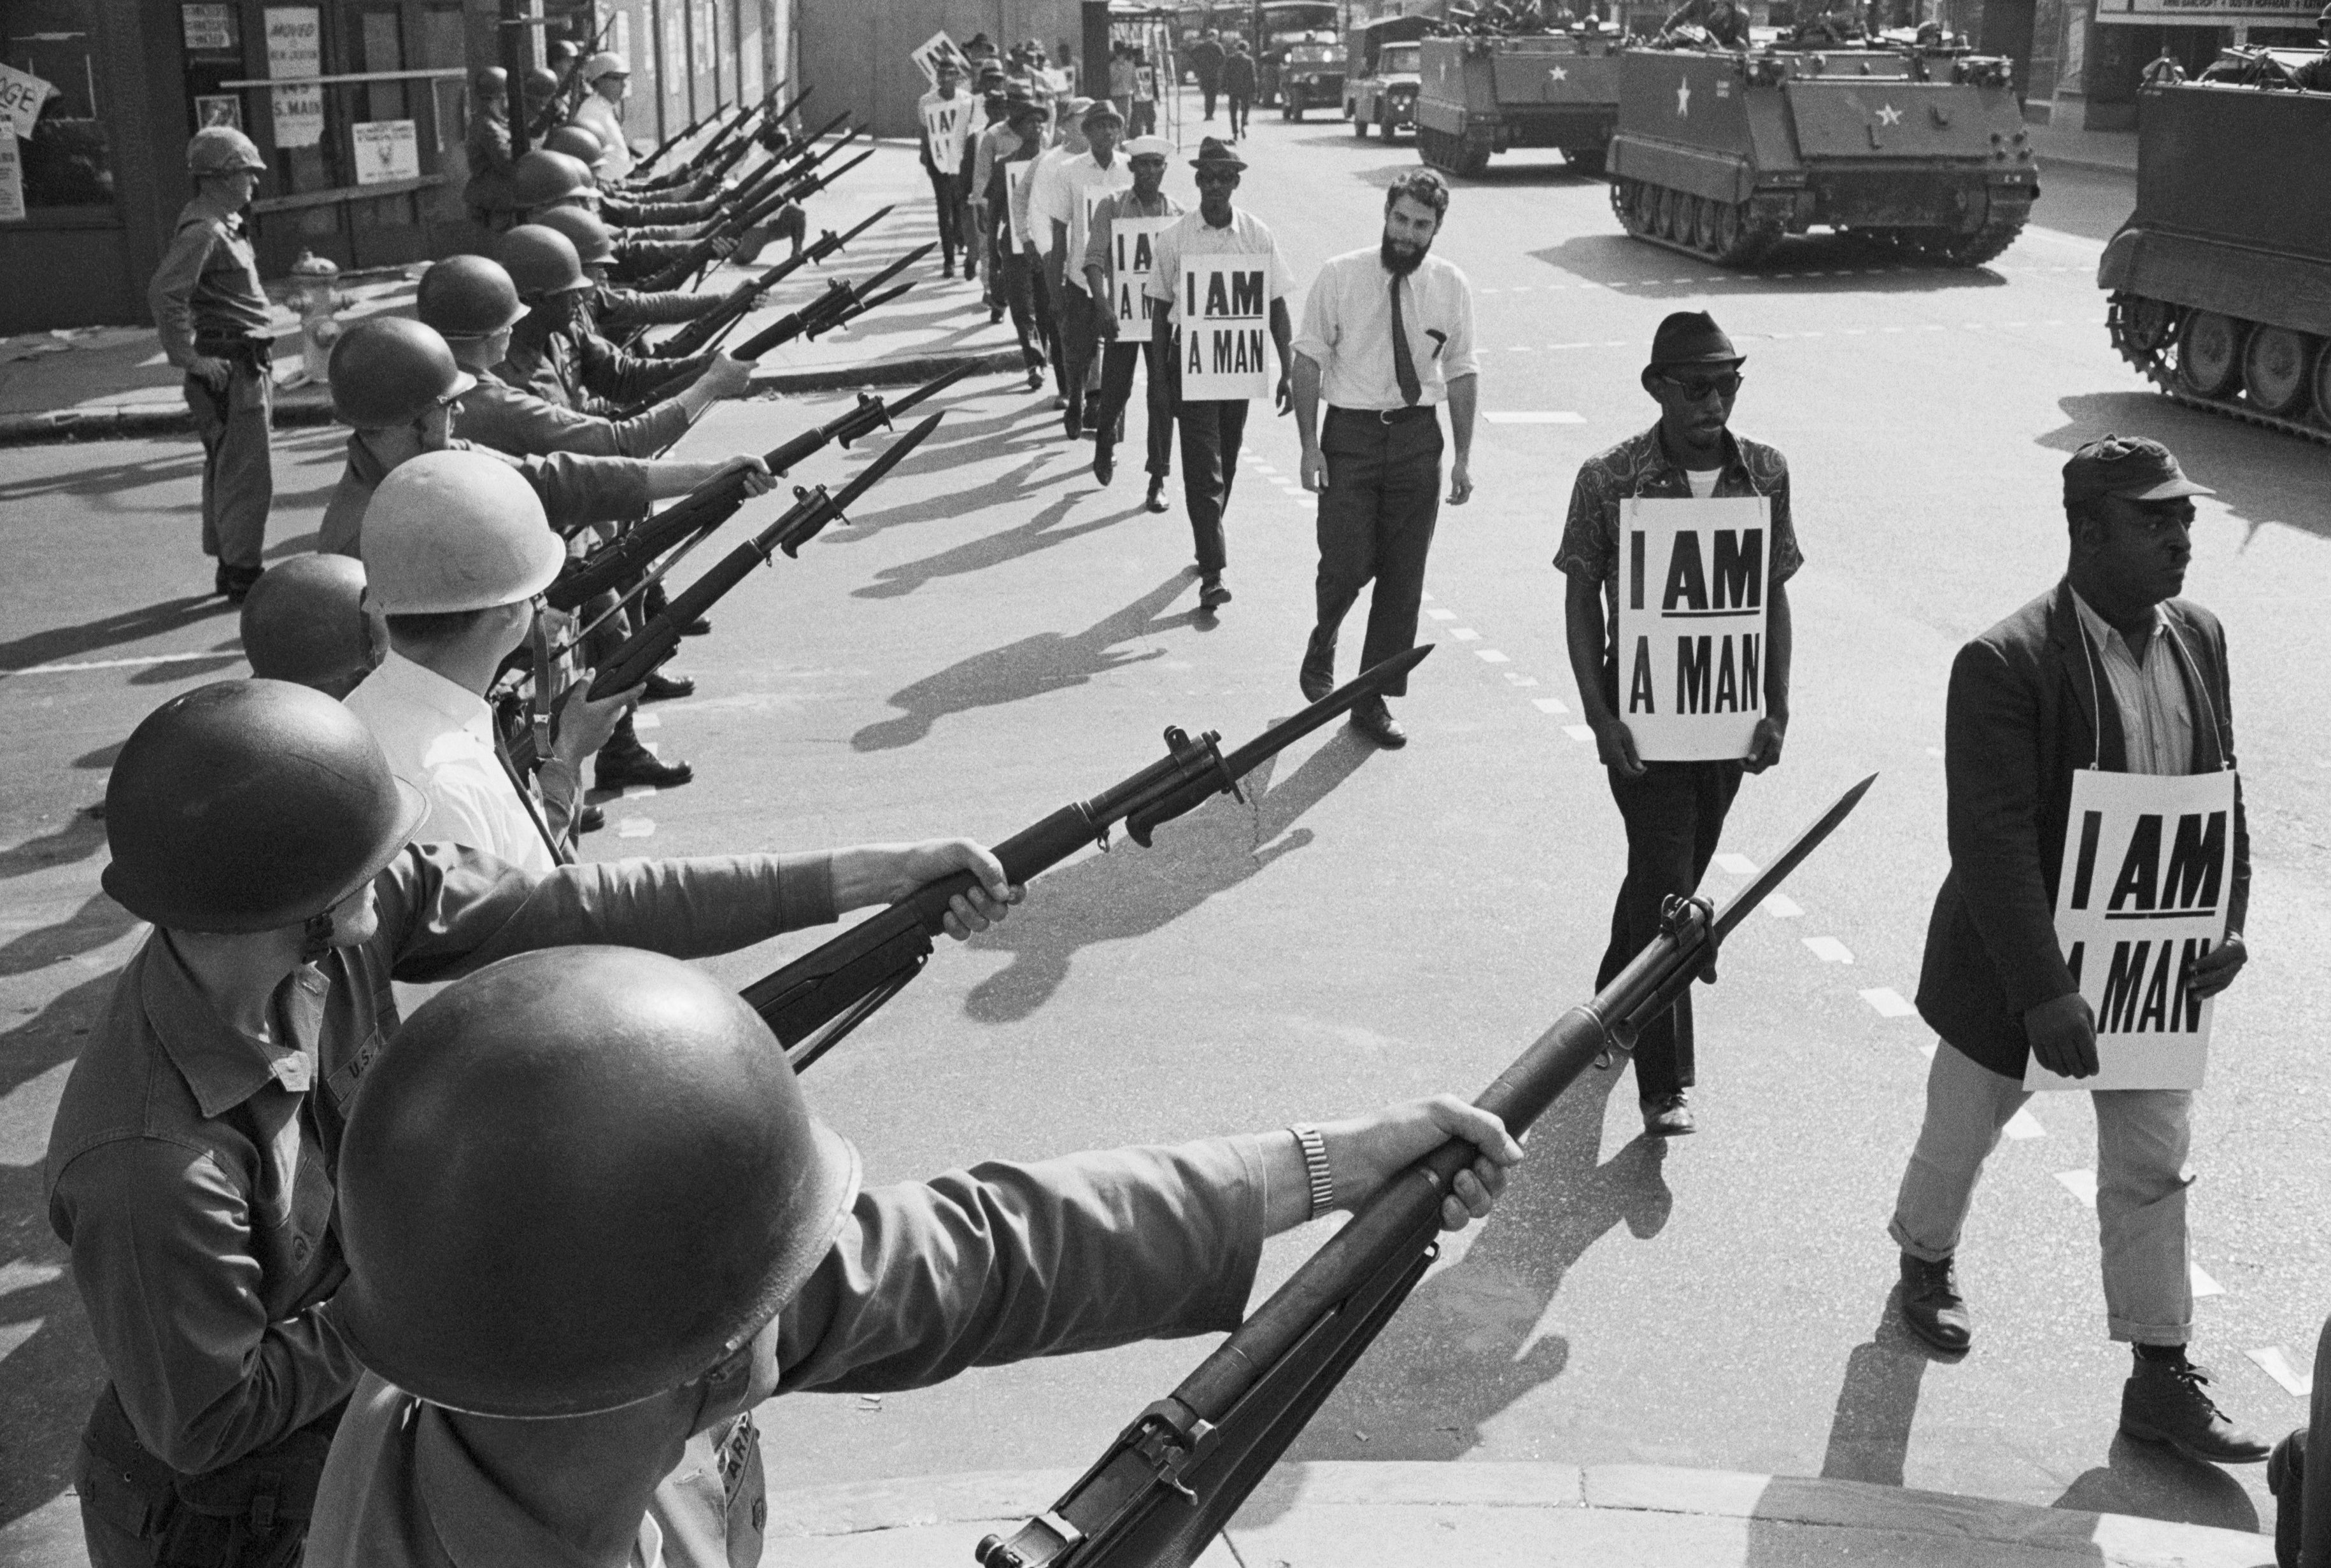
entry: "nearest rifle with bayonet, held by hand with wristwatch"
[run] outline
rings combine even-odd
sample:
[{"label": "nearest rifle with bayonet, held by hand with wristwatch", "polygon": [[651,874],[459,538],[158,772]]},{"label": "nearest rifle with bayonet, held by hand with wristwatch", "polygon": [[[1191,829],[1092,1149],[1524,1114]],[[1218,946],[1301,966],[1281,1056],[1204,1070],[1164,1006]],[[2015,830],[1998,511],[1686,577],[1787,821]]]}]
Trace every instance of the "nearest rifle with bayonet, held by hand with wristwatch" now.
[{"label": "nearest rifle with bayonet, held by hand with wristwatch", "polygon": [[[1667,899],[1660,934],[1585,1007],[1522,1053],[1478,1104],[1520,1137],[1606,1051],[1641,1030],[1695,979],[1713,979],[1725,937],[1860,804],[1876,774],[1834,806],[1720,911]],[[1145,1410],[1049,1512],[988,1535],[984,1568],[1189,1568],[1303,1424],[1385,1328],[1438,1251],[1441,1202],[1473,1160],[1452,1139],[1385,1184],[1170,1396]]]}]

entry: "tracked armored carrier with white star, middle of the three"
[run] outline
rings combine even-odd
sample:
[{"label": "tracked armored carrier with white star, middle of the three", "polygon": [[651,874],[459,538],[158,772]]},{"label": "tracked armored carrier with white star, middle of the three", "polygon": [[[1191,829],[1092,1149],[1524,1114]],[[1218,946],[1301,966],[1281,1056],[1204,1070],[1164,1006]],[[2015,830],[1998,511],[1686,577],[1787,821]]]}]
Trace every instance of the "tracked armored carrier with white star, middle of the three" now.
[{"label": "tracked armored carrier with white star, middle of the three", "polygon": [[1816,226],[1981,266],[2014,242],[2040,196],[2002,58],[1634,49],[1618,98],[1618,221],[1725,268],[1758,266]]}]

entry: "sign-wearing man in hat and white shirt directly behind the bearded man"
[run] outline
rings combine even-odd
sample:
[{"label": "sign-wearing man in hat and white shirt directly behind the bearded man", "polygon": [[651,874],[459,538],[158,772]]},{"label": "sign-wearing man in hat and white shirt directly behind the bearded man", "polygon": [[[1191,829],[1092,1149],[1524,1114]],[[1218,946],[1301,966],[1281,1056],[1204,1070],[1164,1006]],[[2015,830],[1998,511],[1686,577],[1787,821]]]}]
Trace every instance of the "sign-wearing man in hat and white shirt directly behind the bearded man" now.
[{"label": "sign-wearing man in hat and white shirt directly behind the bearded man", "polygon": [[[1270,396],[1282,415],[1294,408],[1296,354],[1287,256],[1259,217],[1231,207],[1245,161],[1205,137],[1191,168],[1198,170],[1198,210],[1159,235],[1149,298],[1166,301],[1166,310],[1149,317],[1149,336],[1172,347],[1182,503],[1198,545],[1198,606],[1212,610],[1231,603],[1221,582],[1228,566],[1221,513],[1238,478],[1247,403]],[[1263,363],[1263,331],[1280,354],[1275,387]]]}]

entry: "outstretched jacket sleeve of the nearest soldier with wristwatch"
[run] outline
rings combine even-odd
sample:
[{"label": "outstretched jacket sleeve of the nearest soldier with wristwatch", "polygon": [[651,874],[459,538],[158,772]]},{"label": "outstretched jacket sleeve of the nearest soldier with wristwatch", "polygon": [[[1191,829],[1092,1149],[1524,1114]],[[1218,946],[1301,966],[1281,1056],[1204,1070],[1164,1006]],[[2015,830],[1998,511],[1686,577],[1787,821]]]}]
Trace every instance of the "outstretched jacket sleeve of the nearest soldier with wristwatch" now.
[{"label": "outstretched jacket sleeve of the nearest soldier with wristwatch", "polygon": [[779,1323],[781,1393],[923,1389],[974,1365],[1238,1326],[1261,1139],[988,1163],[860,1193]]}]

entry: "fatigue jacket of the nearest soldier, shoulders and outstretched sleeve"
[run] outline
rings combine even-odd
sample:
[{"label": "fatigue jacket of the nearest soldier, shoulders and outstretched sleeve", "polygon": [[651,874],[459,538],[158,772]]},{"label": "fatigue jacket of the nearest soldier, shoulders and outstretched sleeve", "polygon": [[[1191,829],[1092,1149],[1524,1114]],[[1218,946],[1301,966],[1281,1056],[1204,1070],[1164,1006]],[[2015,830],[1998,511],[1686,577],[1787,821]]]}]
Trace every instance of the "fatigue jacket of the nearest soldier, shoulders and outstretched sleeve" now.
[{"label": "fatigue jacket of the nearest soldier, shoulders and outstretched sleeve", "polygon": [[[779,1319],[779,1393],[925,1389],[974,1365],[1238,1326],[1263,1244],[1261,1139],[991,1163],[858,1195]],[[704,1447],[702,1433],[690,1456]],[[709,1517],[681,1470],[650,1519],[667,1568],[760,1561],[758,1489]],[[443,1410],[366,1375],[331,1445],[308,1568],[576,1561]]]}]

